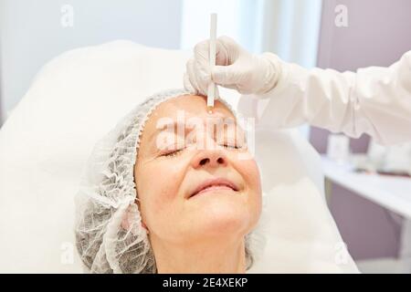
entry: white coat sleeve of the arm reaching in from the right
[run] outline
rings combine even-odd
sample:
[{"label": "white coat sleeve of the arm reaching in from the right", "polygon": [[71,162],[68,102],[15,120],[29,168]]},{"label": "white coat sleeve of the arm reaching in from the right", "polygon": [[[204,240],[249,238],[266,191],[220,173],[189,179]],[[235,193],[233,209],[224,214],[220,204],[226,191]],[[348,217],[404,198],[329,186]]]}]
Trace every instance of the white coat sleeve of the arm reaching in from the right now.
[{"label": "white coat sleeve of the arm reaching in from the right", "polygon": [[382,144],[411,141],[411,51],[389,68],[356,73],[280,63],[276,88],[258,96],[269,99],[259,124],[284,128],[308,122],[353,138],[367,133]]}]

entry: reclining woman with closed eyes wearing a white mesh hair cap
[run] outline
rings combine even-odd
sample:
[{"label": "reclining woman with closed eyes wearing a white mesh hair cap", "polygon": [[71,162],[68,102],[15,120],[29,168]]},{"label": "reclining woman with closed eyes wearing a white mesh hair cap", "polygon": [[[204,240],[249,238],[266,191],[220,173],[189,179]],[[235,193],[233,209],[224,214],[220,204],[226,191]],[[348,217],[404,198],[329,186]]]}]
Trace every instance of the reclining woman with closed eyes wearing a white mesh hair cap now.
[{"label": "reclining woman with closed eyes wearing a white mesh hair cap", "polygon": [[[234,122],[210,130],[210,120]],[[209,113],[204,97],[170,90],[100,141],[77,198],[77,245],[90,272],[244,273],[252,265],[261,185],[236,121],[223,99]]]}]

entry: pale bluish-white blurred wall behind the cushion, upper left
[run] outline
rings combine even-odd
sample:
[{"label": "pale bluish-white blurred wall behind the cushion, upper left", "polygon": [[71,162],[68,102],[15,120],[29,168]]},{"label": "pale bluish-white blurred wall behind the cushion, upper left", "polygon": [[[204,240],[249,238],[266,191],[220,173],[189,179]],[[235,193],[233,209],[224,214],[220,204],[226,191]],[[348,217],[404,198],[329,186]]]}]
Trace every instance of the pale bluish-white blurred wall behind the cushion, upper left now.
[{"label": "pale bluish-white blurred wall behind the cushion, upper left", "polygon": [[2,116],[52,57],[121,38],[178,48],[181,18],[182,0],[0,0]]}]

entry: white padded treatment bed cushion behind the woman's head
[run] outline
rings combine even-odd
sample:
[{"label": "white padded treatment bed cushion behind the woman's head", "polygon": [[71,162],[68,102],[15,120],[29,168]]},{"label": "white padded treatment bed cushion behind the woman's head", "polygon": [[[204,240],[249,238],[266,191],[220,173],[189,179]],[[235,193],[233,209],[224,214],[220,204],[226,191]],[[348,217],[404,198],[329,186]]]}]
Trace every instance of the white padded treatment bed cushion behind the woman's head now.
[{"label": "white padded treatment bed cushion behind the woman's head", "polygon": [[[41,69],[0,130],[0,272],[83,271],[73,196],[90,151],[142,99],[182,87],[189,54],[115,41],[68,51]],[[236,105],[236,93],[221,95]],[[269,222],[263,260],[251,272],[356,272],[350,255],[337,258],[341,237],[318,154],[295,131],[260,129],[257,137]]]}]

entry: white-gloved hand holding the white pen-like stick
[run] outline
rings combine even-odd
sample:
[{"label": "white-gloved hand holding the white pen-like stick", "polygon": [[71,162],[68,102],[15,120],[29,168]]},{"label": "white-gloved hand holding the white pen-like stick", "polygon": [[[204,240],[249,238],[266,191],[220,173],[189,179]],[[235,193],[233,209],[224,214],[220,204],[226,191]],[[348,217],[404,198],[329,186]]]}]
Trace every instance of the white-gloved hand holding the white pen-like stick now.
[{"label": "white-gloved hand holding the white pen-like stick", "polygon": [[264,94],[279,78],[279,58],[271,53],[252,55],[228,36],[216,39],[216,66],[209,64],[209,40],[198,43],[188,60],[184,88],[194,94],[207,94],[212,80],[241,94]]}]

